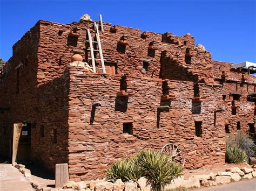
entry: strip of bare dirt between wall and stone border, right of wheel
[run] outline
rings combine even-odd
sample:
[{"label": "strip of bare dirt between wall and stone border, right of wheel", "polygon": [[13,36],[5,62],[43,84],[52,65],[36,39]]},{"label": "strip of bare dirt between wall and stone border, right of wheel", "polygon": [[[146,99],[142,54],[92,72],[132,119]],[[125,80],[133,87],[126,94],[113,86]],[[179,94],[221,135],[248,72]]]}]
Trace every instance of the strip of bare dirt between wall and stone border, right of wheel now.
[{"label": "strip of bare dirt between wall and stone border, right of wheel", "polygon": [[233,168],[233,167],[242,168],[242,167],[250,167],[250,165],[248,165],[247,163],[241,163],[241,164],[225,164],[221,166],[207,166],[207,167],[201,167],[201,168],[192,169],[192,170],[185,169],[184,179],[187,180],[192,175],[210,174],[211,172],[218,173],[220,171],[225,172],[227,168]]}]

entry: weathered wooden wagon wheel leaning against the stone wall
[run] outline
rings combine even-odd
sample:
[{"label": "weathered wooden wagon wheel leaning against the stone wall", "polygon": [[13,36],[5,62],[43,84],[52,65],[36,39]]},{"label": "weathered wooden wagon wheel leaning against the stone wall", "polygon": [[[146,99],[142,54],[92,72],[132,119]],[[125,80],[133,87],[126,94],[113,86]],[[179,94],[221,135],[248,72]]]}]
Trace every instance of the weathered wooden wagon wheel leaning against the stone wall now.
[{"label": "weathered wooden wagon wheel leaning against the stone wall", "polygon": [[184,167],[185,157],[183,152],[180,150],[180,148],[177,145],[174,145],[172,143],[166,144],[165,146],[163,146],[161,153],[171,156],[174,162],[177,162],[182,167]]}]

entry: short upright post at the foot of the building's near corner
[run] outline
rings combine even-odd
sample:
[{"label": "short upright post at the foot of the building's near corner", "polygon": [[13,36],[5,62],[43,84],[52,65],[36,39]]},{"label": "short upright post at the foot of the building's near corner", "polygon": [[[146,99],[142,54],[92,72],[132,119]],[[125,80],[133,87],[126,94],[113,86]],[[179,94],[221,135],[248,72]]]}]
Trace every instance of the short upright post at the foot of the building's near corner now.
[{"label": "short upright post at the foot of the building's near corner", "polygon": [[55,165],[55,188],[62,188],[69,181],[68,163]]}]

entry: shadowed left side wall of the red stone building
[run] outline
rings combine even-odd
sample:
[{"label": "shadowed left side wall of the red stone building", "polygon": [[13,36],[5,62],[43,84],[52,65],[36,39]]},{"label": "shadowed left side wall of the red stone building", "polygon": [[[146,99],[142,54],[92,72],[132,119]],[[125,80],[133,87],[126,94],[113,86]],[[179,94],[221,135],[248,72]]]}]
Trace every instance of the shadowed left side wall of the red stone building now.
[{"label": "shadowed left side wall of the red stone building", "polygon": [[[6,63],[4,81],[0,86],[0,108],[10,108],[0,115],[1,155],[10,160],[14,123],[31,123],[31,159],[42,162],[54,171],[55,164],[67,161],[68,90],[65,77],[55,76],[44,81],[38,73],[39,23],[13,47],[13,56]],[[42,67],[42,66],[41,66]],[[49,73],[51,70],[48,71]],[[44,137],[41,126],[44,126]],[[53,129],[57,129],[57,143],[53,143]]]}]

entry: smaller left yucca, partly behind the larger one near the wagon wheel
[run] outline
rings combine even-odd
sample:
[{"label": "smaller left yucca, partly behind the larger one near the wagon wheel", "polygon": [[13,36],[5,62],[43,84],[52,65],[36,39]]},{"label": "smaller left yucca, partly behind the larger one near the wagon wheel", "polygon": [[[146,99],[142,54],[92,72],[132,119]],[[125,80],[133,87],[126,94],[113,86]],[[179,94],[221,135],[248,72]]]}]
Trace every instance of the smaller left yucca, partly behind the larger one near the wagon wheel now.
[{"label": "smaller left yucca, partly behind the larger one near the wagon wheel", "polygon": [[106,178],[112,182],[117,179],[121,179],[123,182],[129,180],[137,181],[142,175],[142,169],[130,158],[117,160],[106,170]]}]

